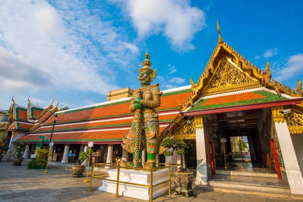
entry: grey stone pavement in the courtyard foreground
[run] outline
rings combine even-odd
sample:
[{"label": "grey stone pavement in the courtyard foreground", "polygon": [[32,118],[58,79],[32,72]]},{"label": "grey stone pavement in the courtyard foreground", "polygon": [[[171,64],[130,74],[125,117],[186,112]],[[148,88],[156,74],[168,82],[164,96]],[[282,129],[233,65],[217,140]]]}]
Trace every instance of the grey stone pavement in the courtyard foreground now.
[{"label": "grey stone pavement in the courtyard foreground", "polygon": [[[49,168],[49,173],[44,174],[44,170],[27,170],[25,163],[22,163],[22,166],[12,166],[12,164],[12,162],[0,162],[0,201],[2,202],[142,201],[124,196],[115,198],[112,193],[98,191],[98,187],[102,185],[101,180],[94,180],[94,191],[88,191],[89,183],[83,182],[85,178],[73,178],[72,172],[68,170]],[[155,198],[154,201],[299,202],[303,200],[195,189],[195,196],[192,197],[164,194]]]}]

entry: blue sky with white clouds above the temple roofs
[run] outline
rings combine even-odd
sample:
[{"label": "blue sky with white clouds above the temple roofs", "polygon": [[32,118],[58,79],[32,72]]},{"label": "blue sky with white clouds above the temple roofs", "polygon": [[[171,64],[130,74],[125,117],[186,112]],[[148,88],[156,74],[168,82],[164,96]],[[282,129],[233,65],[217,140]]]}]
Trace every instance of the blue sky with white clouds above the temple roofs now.
[{"label": "blue sky with white clouds above the temple roofs", "polygon": [[273,79],[303,80],[301,1],[0,0],[0,109],[75,108],[139,87],[148,48],[161,89],[197,81],[218,41]]}]

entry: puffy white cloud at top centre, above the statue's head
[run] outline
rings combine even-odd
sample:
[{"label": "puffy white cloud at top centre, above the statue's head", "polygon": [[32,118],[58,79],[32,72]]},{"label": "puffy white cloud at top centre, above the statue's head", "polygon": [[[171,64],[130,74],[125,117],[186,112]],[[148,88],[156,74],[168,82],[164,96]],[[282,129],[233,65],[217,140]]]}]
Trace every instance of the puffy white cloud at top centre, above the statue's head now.
[{"label": "puffy white cloud at top centre, above the statue's head", "polygon": [[187,0],[114,1],[131,18],[140,38],[162,33],[179,52],[194,49],[193,36],[207,27],[206,14]]}]

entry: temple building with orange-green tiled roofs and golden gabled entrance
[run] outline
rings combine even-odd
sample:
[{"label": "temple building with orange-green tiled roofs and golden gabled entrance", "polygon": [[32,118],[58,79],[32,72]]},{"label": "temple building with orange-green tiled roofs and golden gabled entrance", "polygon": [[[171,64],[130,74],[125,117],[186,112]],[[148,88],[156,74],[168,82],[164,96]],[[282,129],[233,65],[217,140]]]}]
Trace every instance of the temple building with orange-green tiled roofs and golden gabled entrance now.
[{"label": "temple building with orange-green tiled roofs and golden gabled entrance", "polygon": [[[163,91],[157,109],[161,135],[187,143],[185,164],[194,171],[195,184],[231,187],[216,176],[253,176],[261,182],[276,180],[256,189],[303,194],[301,81],[295,90],[275,81],[268,62],[262,71],[223,40],[219,25],[218,32],[204,71],[195,72],[201,75],[198,81]],[[39,136],[51,137],[56,114],[53,161],[76,161],[88,141],[94,142],[98,162],[116,157],[131,161],[121,143],[132,122],[132,93],[130,88],[112,91],[108,102],[64,111],[58,105],[41,108],[29,102],[26,108],[13,102],[10,149],[22,141],[29,156]],[[178,162],[174,156],[157,158]],[[242,188],[257,186],[237,183]]]}]

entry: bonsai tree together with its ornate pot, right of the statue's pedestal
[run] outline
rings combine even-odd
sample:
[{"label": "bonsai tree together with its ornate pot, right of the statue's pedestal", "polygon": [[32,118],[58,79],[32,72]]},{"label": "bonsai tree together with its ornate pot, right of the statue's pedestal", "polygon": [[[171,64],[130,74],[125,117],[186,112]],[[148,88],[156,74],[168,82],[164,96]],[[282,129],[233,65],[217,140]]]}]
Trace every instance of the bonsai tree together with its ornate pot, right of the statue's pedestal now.
[{"label": "bonsai tree together with its ornate pot, right of the statue's pedestal", "polygon": [[175,194],[185,193],[185,196],[188,197],[189,194],[192,194],[193,192],[194,176],[193,172],[188,171],[184,168],[183,154],[184,149],[187,148],[187,144],[183,140],[176,142],[176,140],[173,138],[166,138],[161,142],[161,146],[168,149],[173,148],[172,151],[164,151],[164,156],[172,156],[175,149],[176,154],[181,156],[181,167],[178,171],[174,172],[173,176],[175,183]]}]

